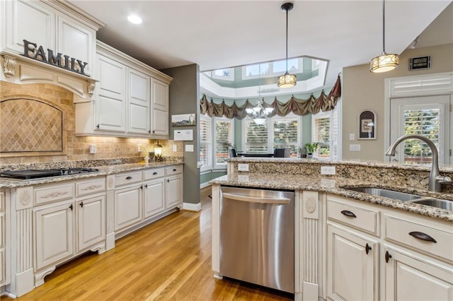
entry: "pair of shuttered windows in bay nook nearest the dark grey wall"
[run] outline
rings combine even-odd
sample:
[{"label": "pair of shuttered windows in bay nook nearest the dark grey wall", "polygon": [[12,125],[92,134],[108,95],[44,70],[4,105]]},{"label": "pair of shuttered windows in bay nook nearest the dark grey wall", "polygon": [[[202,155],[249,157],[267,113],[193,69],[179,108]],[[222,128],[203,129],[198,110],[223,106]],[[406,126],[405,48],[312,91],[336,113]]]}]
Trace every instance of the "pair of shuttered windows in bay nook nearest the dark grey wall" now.
[{"label": "pair of shuttered windows in bay nook nearest the dark grey wall", "polygon": [[226,168],[225,159],[233,139],[234,119],[200,115],[200,170]]}]

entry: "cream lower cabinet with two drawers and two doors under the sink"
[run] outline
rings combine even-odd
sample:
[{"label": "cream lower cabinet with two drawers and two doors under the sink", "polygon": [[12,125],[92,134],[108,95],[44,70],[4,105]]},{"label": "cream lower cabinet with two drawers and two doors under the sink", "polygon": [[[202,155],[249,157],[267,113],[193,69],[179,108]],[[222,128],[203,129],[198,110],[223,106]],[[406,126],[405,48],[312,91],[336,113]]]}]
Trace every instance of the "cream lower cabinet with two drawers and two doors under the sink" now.
[{"label": "cream lower cabinet with two drawers and two doors under the sink", "polygon": [[328,300],[452,300],[452,223],[326,196]]}]

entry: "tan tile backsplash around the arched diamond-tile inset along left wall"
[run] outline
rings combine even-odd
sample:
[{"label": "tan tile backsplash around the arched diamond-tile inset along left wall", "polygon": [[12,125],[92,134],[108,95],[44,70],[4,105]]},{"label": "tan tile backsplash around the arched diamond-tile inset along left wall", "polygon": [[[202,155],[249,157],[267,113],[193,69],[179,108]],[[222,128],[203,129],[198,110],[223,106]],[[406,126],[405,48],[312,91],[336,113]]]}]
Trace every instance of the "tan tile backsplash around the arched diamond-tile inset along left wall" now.
[{"label": "tan tile backsplash around the arched diamond-tile inset along left wall", "polygon": [[[12,95],[28,95],[40,98],[55,104],[64,110],[66,120],[64,124],[64,137],[67,146],[64,151],[54,155],[37,155],[36,153],[0,153],[0,165],[11,164],[30,164],[30,163],[54,163],[62,161],[76,160],[98,160],[116,158],[137,158],[144,157],[144,152],[137,151],[137,145],[142,144],[147,151],[153,151],[154,139],[147,138],[116,138],[116,137],[97,137],[97,136],[75,136],[74,104],[72,103],[73,94],[57,85],[48,84],[26,84],[18,85],[0,81],[0,100],[10,98]],[[0,114],[1,117],[1,114]],[[3,129],[6,119],[0,119],[0,131]],[[36,132],[35,135],[42,133]],[[164,156],[183,157],[183,143],[181,141],[159,141],[163,149]],[[0,141],[9,143],[9,141]],[[90,154],[90,144],[96,144],[97,153]],[[173,144],[177,146],[177,152],[173,152]]]}]

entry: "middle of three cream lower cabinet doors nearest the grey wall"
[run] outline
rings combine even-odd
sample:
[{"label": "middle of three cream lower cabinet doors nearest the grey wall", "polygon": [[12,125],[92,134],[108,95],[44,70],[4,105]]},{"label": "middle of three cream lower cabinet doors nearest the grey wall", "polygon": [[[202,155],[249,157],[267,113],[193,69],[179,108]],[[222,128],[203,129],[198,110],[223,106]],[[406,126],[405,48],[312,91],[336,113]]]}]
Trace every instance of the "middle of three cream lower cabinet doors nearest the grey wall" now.
[{"label": "middle of three cream lower cabinet doors nearest the grey wall", "polygon": [[144,217],[155,216],[165,210],[165,179],[144,184]]}]

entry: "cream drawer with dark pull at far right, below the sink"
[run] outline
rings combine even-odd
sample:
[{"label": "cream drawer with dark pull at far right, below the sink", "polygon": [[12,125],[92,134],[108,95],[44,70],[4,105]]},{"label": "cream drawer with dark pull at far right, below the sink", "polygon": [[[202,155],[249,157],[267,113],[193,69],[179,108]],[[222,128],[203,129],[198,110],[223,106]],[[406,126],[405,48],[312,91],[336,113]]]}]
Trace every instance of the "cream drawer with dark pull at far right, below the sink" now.
[{"label": "cream drawer with dark pull at far right, below the sink", "polygon": [[[385,217],[384,231],[386,240],[391,240],[396,244],[403,244],[413,249],[419,249],[421,252],[428,253],[431,256],[440,256],[453,261],[452,232],[444,232],[391,216]],[[430,237],[435,242],[430,241]]]}]

